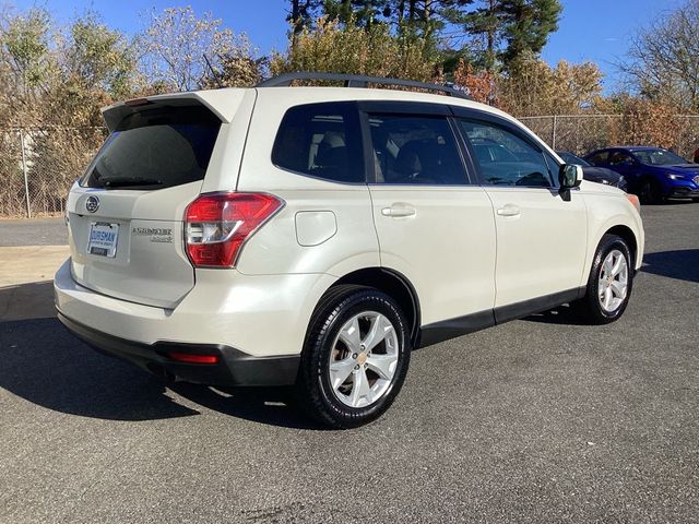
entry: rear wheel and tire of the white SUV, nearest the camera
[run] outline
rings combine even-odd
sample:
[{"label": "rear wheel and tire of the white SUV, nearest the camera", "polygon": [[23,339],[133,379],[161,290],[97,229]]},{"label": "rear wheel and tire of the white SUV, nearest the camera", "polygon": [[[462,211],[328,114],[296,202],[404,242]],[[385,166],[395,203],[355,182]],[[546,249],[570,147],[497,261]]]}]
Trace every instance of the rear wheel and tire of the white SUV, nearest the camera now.
[{"label": "rear wheel and tire of the white SUV, nearest the camera", "polygon": [[411,350],[407,322],[393,298],[371,287],[336,286],[311,318],[297,401],[324,426],[368,424],[400,392]]}]

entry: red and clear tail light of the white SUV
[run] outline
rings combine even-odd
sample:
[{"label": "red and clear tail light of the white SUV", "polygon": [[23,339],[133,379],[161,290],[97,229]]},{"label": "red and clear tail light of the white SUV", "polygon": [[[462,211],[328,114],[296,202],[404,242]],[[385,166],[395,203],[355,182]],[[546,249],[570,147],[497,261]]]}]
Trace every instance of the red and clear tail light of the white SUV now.
[{"label": "red and clear tail light of the white SUV", "polygon": [[266,193],[202,194],[185,212],[189,260],[196,267],[233,267],[245,241],[283,205]]}]

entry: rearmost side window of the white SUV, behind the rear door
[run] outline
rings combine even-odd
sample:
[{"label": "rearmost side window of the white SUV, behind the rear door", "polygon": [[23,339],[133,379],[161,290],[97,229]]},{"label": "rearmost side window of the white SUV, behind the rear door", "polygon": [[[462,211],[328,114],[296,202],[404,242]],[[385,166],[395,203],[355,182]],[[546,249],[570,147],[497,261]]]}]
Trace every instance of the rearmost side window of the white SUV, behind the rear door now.
[{"label": "rearmost side window of the white SUV, behind the rear door", "polygon": [[352,104],[310,104],[284,115],[272,163],[336,182],[364,182],[358,117]]}]

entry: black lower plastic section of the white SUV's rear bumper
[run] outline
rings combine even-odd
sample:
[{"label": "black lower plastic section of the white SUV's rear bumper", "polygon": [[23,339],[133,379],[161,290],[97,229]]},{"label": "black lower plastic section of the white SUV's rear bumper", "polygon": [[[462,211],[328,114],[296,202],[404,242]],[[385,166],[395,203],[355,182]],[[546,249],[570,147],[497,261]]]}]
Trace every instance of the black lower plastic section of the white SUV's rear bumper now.
[{"label": "black lower plastic section of the white SUV's rear bumper", "polygon": [[[157,342],[149,345],[108,335],[58,313],[58,320],[93,348],[128,360],[154,374],[210,385],[291,385],[296,381],[300,355],[253,357],[222,344]],[[217,364],[185,364],[170,352],[216,355]]]}]

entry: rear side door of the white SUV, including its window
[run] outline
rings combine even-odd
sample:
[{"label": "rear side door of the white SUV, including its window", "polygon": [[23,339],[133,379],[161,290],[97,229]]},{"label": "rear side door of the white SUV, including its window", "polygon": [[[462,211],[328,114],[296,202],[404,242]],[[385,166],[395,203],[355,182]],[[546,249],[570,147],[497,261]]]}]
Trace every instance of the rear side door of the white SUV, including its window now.
[{"label": "rear side door of the white SUV, including its window", "polygon": [[[416,288],[423,325],[493,323],[493,207],[470,178],[448,107],[359,104],[381,265]],[[474,314],[477,313],[477,314]]]}]

